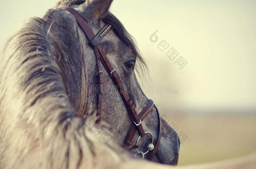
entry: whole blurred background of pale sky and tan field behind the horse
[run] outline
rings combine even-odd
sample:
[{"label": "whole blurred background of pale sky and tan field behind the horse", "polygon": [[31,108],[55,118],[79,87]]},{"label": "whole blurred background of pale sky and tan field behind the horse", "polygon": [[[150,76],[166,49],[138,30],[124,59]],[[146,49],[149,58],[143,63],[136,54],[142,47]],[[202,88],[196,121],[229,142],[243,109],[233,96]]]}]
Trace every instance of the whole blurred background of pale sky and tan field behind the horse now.
[{"label": "whole blurred background of pale sky and tan field behind the horse", "polygon": [[[0,50],[57,0],[0,1]],[[141,88],[181,139],[179,165],[256,152],[256,1],[114,0],[149,75]]]}]

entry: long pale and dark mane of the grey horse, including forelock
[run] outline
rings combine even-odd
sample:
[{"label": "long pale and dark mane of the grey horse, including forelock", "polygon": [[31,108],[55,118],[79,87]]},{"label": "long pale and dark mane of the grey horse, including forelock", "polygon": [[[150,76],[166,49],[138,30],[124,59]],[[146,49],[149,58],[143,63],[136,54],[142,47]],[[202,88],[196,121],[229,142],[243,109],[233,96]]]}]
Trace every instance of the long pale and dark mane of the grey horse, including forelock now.
[{"label": "long pale and dark mane of the grey horse, including forelock", "polygon": [[[63,0],[57,6],[81,2]],[[58,12],[50,9],[43,18],[26,20],[5,44],[0,58],[0,168],[91,168],[97,163],[104,168],[104,163],[114,159],[113,168],[129,159],[123,150],[112,146],[116,144],[110,141],[105,145],[97,139],[99,136],[93,134],[91,126],[76,116],[76,105],[59,62],[63,53],[54,45],[57,39],[51,33],[51,15],[60,16]],[[144,64],[119,20],[109,14],[104,21],[113,25],[117,35]],[[44,159],[49,163],[44,164]]]}]

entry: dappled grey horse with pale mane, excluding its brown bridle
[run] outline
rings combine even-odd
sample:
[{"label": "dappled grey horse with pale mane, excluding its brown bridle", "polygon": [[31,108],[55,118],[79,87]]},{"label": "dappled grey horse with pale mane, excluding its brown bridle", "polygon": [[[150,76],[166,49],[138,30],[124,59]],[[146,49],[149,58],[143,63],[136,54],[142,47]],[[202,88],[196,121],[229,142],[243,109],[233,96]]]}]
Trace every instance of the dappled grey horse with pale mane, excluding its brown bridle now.
[{"label": "dappled grey horse with pale mane, excluding its brown bridle", "polygon": [[[133,37],[109,12],[111,3],[60,0],[42,18],[26,20],[7,40],[0,61],[0,169],[128,168],[142,161],[134,149],[131,155],[120,147],[133,122],[103,66],[101,121],[94,123],[99,118],[97,60],[76,18],[64,8],[76,10],[94,34],[111,24],[99,44],[140,112],[149,99],[135,72],[143,74],[147,66]],[[178,134],[164,119],[157,121],[157,113],[153,108],[138,125],[155,141],[162,123],[152,161],[177,165]],[[102,132],[111,139],[102,139]],[[145,135],[131,145],[143,151],[148,141]]]}]

